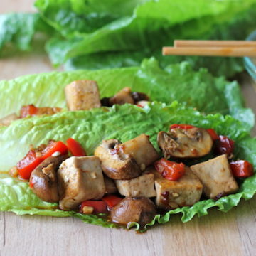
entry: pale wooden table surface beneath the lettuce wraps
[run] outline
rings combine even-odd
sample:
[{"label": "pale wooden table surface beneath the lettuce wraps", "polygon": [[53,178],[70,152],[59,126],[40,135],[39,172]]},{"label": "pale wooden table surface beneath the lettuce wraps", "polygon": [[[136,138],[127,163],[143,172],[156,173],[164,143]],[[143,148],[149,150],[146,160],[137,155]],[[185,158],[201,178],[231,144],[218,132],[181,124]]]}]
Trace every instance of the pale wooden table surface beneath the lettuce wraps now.
[{"label": "pale wooden table surface beneath the lettuce wraps", "polygon": [[[33,11],[33,0],[1,1],[0,12]],[[46,55],[20,54],[0,59],[0,79],[53,70]],[[255,91],[247,77],[242,92],[256,112]],[[253,132],[255,135],[255,131]],[[0,213],[3,255],[256,255],[256,198],[241,201],[228,213],[216,209],[201,218],[134,231],[87,225],[75,218]]]}]

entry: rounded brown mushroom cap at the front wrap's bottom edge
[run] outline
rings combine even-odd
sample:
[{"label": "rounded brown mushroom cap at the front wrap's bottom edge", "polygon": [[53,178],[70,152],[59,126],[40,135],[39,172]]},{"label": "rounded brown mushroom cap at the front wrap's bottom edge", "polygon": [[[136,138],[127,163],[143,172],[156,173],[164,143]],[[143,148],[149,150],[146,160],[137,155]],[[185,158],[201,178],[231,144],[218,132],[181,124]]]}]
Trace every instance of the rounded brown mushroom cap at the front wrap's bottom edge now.
[{"label": "rounded brown mushroom cap at the front wrap's bottom edge", "polygon": [[156,206],[145,197],[124,198],[111,210],[111,220],[114,223],[127,225],[137,222],[139,225],[146,225],[156,215]]}]

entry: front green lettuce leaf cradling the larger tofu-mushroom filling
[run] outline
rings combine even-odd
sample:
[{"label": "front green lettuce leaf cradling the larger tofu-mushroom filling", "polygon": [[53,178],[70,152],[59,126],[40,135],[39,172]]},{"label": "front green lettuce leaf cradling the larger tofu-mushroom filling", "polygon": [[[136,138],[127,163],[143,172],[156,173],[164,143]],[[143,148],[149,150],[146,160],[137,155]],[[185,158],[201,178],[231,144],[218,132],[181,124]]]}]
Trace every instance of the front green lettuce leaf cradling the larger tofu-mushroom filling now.
[{"label": "front green lettuce leaf cradling the larger tofu-mushroom filling", "polygon": [[[159,150],[157,133],[167,130],[169,124],[188,123],[198,127],[213,128],[218,134],[225,134],[235,140],[235,157],[247,159],[256,166],[256,139],[251,138],[245,126],[230,116],[221,114],[203,116],[192,108],[186,108],[173,102],[166,106],[157,102],[144,107],[134,105],[115,105],[90,111],[62,112],[51,117],[33,117],[13,122],[9,127],[0,128],[0,170],[6,171],[21,159],[29,149],[48,142],[48,139],[62,140],[73,137],[81,142],[87,153],[93,154],[102,139],[115,138],[122,142],[141,133],[150,136],[151,143]],[[256,192],[256,175],[241,181],[238,193],[220,198],[200,201],[192,207],[170,210],[165,215],[156,215],[146,226],[166,223],[171,215],[182,213],[181,220],[187,222],[194,215],[206,215],[208,208],[217,206],[218,210],[228,211],[237,206],[240,198],[250,199]],[[9,210],[17,214],[40,214],[54,216],[75,216],[85,223],[115,227],[104,216],[82,215],[80,213],[61,212],[54,203],[46,203],[36,198],[28,183],[18,181],[6,174],[0,175],[0,210]],[[132,223],[130,227],[137,223]],[[142,229],[145,230],[146,228]]]}]

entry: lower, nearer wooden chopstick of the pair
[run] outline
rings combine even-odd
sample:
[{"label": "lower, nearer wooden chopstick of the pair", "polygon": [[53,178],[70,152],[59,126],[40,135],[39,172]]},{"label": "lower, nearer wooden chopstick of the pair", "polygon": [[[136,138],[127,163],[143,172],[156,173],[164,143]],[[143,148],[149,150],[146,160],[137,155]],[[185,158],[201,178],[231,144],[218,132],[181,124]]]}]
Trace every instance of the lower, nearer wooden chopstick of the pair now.
[{"label": "lower, nearer wooden chopstick of the pair", "polygon": [[163,47],[163,55],[256,57],[256,47]]}]

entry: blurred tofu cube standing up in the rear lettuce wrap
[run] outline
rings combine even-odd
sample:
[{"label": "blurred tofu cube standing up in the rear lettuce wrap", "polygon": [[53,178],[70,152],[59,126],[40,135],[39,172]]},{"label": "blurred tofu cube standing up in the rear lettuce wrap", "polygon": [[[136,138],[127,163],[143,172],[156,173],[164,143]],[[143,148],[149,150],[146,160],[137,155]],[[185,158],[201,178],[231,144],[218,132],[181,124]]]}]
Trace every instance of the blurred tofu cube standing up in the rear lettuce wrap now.
[{"label": "blurred tofu cube standing up in the rear lettuce wrap", "polygon": [[90,110],[100,107],[100,93],[97,82],[76,80],[65,87],[65,97],[69,110]]}]

